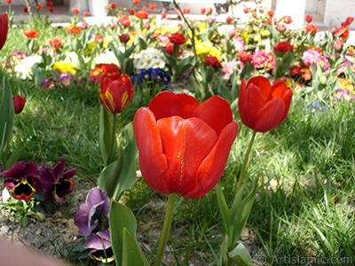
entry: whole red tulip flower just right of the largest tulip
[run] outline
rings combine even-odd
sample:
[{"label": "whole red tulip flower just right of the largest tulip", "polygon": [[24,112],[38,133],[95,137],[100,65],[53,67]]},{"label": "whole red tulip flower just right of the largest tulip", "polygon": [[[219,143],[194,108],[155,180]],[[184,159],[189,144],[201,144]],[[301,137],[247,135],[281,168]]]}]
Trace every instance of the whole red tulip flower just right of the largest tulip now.
[{"label": "whole red tulip flower just right of the largest tulip", "polygon": [[292,90],[285,82],[270,84],[264,76],[241,82],[238,108],[241,121],[250,129],[266,132],[276,128],[288,115]]}]

